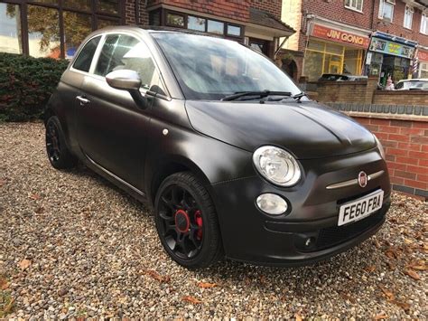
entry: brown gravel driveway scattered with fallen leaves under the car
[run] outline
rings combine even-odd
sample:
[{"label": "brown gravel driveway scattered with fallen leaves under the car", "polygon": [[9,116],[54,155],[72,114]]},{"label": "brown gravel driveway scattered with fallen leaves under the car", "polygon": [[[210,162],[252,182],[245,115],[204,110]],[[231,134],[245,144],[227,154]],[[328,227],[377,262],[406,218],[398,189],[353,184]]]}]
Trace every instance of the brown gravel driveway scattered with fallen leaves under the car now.
[{"label": "brown gravel driveway scattered with fallen leaves under the car", "polygon": [[54,170],[41,123],[0,124],[0,318],[426,318],[427,203],[314,266],[182,269],[144,206],[85,168]]}]

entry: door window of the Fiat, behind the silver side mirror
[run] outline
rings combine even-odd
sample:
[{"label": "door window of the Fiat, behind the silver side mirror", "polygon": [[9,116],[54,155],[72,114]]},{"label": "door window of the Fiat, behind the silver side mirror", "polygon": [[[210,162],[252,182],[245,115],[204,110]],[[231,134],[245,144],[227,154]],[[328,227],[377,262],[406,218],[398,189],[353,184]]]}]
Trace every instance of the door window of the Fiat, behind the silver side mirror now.
[{"label": "door window of the Fiat, behind the silver side mirror", "polygon": [[159,75],[155,72],[154,61],[144,42],[126,34],[107,35],[95,73],[104,77],[111,71],[122,69],[137,71],[145,90],[152,84],[158,85]]}]

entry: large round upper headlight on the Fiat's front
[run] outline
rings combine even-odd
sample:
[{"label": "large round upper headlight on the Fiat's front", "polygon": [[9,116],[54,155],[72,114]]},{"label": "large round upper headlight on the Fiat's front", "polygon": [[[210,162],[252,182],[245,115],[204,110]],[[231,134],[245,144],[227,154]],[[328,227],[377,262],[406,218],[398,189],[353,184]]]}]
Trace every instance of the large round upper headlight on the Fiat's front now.
[{"label": "large round upper headlight on the Fiat's front", "polygon": [[253,154],[258,172],[269,182],[281,186],[292,186],[299,182],[302,172],[295,158],[284,149],[262,146]]}]

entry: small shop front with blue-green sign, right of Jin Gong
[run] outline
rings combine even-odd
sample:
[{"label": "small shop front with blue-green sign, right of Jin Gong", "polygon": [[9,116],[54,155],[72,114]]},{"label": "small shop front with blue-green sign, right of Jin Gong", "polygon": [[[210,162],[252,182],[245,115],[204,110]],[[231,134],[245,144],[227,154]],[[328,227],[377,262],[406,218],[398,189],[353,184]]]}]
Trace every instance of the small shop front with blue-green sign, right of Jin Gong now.
[{"label": "small shop front with blue-green sign, right of Jin Gong", "polygon": [[391,34],[374,33],[366,58],[368,75],[377,76],[382,86],[389,77],[394,82],[410,78],[416,44]]}]

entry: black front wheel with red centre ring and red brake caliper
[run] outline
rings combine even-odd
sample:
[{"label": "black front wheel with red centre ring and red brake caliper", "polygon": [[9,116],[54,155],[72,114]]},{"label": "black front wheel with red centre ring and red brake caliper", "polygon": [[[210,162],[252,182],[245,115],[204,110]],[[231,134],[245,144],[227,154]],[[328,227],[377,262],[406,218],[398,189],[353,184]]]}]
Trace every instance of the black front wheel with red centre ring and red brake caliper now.
[{"label": "black front wheel with red centre ring and red brake caliper", "polygon": [[183,267],[206,268],[222,258],[214,204],[191,173],[173,174],[163,181],[154,202],[154,220],[163,248]]}]

